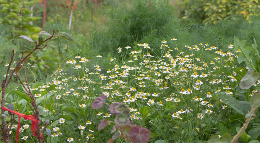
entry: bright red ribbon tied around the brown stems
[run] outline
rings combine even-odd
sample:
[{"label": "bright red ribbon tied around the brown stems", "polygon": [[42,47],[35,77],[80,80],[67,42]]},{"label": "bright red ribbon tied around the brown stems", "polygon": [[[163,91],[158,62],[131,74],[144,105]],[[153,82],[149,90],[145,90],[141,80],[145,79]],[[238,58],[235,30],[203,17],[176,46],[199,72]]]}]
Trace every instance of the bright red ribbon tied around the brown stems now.
[{"label": "bright red ribbon tied around the brown stems", "polygon": [[[12,111],[12,110],[10,110],[10,109],[8,109],[8,108],[6,108],[6,107],[1,107],[1,109],[4,109],[4,110],[6,110],[6,111],[9,111],[9,112],[12,112],[13,114],[16,114],[16,115],[18,115],[18,127],[17,127],[17,131],[16,131],[16,138],[15,138],[15,140],[16,140],[16,143],[18,142],[18,136],[19,136],[19,131],[20,131],[20,119],[21,119],[21,117],[23,117],[25,120],[31,120],[32,121],[32,127],[31,127],[31,129],[32,129],[32,135],[33,136],[36,136],[36,134],[33,132],[33,131],[36,131],[37,130],[37,123],[39,122],[39,120],[37,120],[36,119],[36,116],[34,116],[34,115],[25,115],[25,114],[22,114],[22,113],[19,113],[19,112],[16,112],[16,111]],[[11,127],[10,127],[11,128]],[[42,137],[42,133],[40,133],[41,134],[41,138],[43,138]]]}]

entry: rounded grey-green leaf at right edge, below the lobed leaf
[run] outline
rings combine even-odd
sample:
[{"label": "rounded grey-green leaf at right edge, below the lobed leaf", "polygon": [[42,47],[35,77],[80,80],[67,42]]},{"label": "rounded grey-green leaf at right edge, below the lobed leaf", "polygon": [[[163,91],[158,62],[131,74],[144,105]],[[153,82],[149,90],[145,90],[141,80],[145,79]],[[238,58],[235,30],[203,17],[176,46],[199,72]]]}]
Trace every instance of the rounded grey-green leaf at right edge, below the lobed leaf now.
[{"label": "rounded grey-green leaf at right edge, below the lobed leaf", "polygon": [[241,89],[250,88],[258,79],[259,73],[254,72],[254,69],[247,71],[246,75],[241,79],[239,87]]}]

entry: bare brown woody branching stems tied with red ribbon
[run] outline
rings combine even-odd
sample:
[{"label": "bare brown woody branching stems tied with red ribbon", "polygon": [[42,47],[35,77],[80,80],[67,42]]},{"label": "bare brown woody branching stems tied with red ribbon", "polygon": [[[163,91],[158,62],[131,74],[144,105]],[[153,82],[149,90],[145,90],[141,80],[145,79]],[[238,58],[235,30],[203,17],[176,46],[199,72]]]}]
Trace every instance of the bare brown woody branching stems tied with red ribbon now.
[{"label": "bare brown woody branching stems tied with red ribbon", "polygon": [[[44,41],[42,41],[42,43],[50,40],[51,38],[53,38],[54,36],[54,33],[55,31],[53,30],[53,34],[45,39]],[[14,48],[12,49],[12,53],[11,53],[11,59],[10,59],[10,62],[9,62],[9,65],[8,65],[8,69],[7,69],[7,72],[6,72],[6,77],[5,79],[2,81],[2,83],[0,84],[1,87],[2,87],[2,91],[1,91],[1,106],[4,106],[4,103],[5,103],[5,98],[4,98],[4,95],[5,95],[5,89],[6,87],[9,85],[10,81],[12,80],[12,77],[13,77],[13,74],[15,72],[15,70],[20,66],[20,64],[25,61],[35,50],[37,49],[43,49],[45,48],[47,45],[43,46],[43,48],[40,48],[40,44],[37,44],[37,42],[35,42],[35,48],[32,49],[32,51],[27,54],[24,58],[24,52],[22,52],[22,56],[21,58],[19,59],[19,61],[17,62],[16,64],[16,67],[12,70],[11,74],[10,74],[10,77],[8,78],[8,73],[9,73],[9,70],[10,70],[10,67],[11,67],[11,64],[13,62],[13,58],[14,58]],[[26,72],[25,72],[26,73]],[[19,76],[18,76],[19,77]],[[20,83],[21,83],[21,79],[19,80]],[[23,84],[22,84],[23,85]],[[28,82],[27,82],[27,85],[28,85]],[[24,86],[24,85],[23,85]],[[24,87],[25,88],[25,87]],[[25,90],[27,91],[27,89],[25,88]],[[29,88],[29,91],[30,91],[30,88]],[[28,92],[28,94],[32,95],[32,93]],[[33,97],[31,97],[32,99],[34,99]],[[35,103],[35,100],[34,100],[34,103]],[[35,104],[36,105],[36,104]],[[36,118],[37,120],[39,120],[39,111],[38,111],[38,108],[37,106],[34,106],[33,108],[35,108],[35,111],[36,111]],[[34,112],[34,111],[33,111]],[[9,134],[7,132],[7,128],[5,127],[5,119],[4,119],[4,109],[1,109],[1,122],[2,122],[2,125],[1,125],[1,129],[2,129],[2,135],[1,135],[1,138],[4,140],[4,142],[6,143],[10,143],[10,138],[9,138]],[[38,115],[38,116],[37,116]],[[38,138],[38,142],[40,143],[41,140],[39,141],[39,138],[40,138],[40,122],[37,123],[37,131],[38,133],[36,133],[37,135],[37,138]]]}]

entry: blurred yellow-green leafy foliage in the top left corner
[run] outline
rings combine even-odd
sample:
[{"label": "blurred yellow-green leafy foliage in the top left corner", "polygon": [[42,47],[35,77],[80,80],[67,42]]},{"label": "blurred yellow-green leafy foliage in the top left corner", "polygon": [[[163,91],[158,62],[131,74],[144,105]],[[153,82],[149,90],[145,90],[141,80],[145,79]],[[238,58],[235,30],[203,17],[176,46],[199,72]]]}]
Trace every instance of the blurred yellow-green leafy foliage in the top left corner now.
[{"label": "blurred yellow-green leafy foliage in the top left corner", "polygon": [[42,29],[32,25],[32,22],[42,18],[30,15],[33,13],[30,7],[34,7],[37,2],[39,1],[0,0],[0,23],[10,29],[10,37],[28,35],[32,39],[38,38],[38,32]]}]

